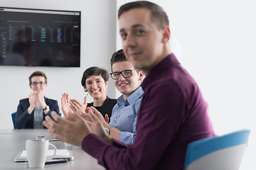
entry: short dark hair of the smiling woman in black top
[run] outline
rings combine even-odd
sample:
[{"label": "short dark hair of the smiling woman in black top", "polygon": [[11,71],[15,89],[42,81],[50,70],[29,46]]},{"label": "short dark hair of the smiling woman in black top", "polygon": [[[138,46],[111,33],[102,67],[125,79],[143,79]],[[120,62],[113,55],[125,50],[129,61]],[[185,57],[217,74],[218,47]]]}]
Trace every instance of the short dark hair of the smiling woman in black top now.
[{"label": "short dark hair of the smiling woman in black top", "polygon": [[108,81],[109,79],[109,73],[107,72],[107,69],[100,69],[99,67],[90,67],[88,69],[85,70],[85,72],[82,74],[82,80],[81,80],[81,84],[85,89],[85,92],[87,92],[86,86],[85,86],[85,81],[88,77],[95,75],[95,76],[101,76],[104,81]]}]

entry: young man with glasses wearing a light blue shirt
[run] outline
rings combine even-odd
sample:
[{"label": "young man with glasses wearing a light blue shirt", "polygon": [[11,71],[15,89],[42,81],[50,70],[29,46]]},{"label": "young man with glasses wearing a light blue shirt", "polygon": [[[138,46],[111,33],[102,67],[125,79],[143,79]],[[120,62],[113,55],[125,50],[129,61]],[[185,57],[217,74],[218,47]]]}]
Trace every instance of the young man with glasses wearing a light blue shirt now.
[{"label": "young man with glasses wearing a light blue shirt", "polygon": [[111,137],[132,144],[136,135],[137,113],[144,94],[141,87],[144,74],[141,70],[134,69],[122,50],[114,52],[110,64],[114,86],[122,95],[117,98],[117,104],[112,110],[110,124],[102,116],[98,118]]}]

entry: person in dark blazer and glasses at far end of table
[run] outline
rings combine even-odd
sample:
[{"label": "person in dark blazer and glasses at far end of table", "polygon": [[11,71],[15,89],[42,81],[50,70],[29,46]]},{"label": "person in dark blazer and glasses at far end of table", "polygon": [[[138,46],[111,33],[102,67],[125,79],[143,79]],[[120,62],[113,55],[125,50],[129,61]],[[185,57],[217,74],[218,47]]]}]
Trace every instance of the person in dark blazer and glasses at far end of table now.
[{"label": "person in dark blazer and glasses at far end of table", "polygon": [[18,129],[43,129],[43,120],[46,115],[51,113],[60,113],[58,102],[46,98],[44,91],[47,87],[47,77],[43,72],[33,72],[29,79],[29,86],[33,92],[28,96],[19,101],[15,126]]}]

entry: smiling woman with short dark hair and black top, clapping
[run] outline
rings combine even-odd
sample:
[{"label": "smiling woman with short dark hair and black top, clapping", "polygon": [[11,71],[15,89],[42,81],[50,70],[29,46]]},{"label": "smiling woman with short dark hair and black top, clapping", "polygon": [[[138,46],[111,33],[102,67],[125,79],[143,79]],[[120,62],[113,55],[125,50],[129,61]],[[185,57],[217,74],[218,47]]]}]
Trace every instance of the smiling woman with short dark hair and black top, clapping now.
[{"label": "smiling woman with short dark hair and black top, clapping", "polygon": [[68,94],[63,94],[61,98],[61,106],[64,115],[68,115],[70,108],[73,112],[85,111],[85,108],[93,106],[102,113],[103,117],[108,120],[112,115],[112,108],[117,103],[116,99],[107,97],[106,89],[108,84],[109,74],[106,69],[99,67],[90,67],[82,74],[81,84],[93,98],[92,103],[87,103],[85,96],[84,103],[80,103],[77,99],[70,99]]}]

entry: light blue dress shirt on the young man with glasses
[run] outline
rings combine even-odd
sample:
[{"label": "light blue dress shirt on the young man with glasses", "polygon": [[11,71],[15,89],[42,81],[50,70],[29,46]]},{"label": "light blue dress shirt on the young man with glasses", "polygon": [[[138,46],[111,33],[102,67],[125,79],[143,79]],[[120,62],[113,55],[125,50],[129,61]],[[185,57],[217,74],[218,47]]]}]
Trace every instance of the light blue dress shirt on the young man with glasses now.
[{"label": "light blue dress shirt on the young man with glasses", "polygon": [[144,91],[140,86],[125,101],[123,96],[117,98],[112,110],[110,125],[120,130],[119,141],[132,144],[136,135],[136,122]]}]

